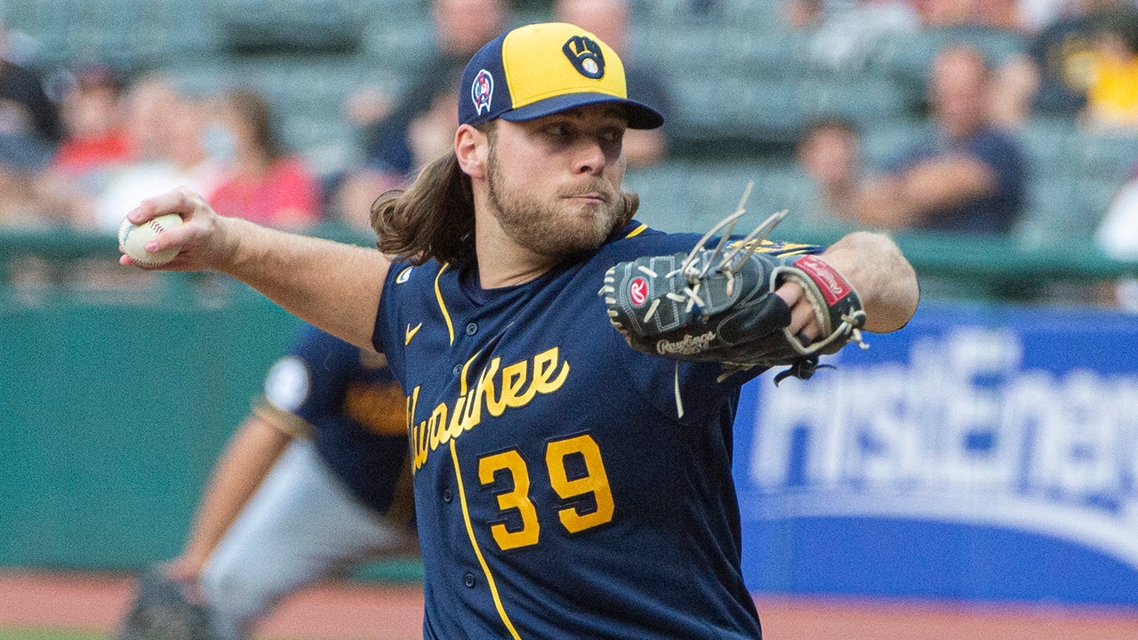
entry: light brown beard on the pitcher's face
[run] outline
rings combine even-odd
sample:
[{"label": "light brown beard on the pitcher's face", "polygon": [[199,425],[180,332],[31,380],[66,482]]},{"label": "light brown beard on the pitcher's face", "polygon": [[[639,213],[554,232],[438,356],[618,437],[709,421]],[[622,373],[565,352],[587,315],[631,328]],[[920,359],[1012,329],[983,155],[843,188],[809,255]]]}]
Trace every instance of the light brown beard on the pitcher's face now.
[{"label": "light brown beard on the pitcher's face", "polygon": [[[621,195],[600,178],[587,186],[560,191],[553,203],[547,203],[535,198],[525,186],[505,179],[493,147],[488,173],[488,197],[502,230],[513,241],[539,255],[560,257],[595,251],[625,214]],[[564,199],[587,192],[600,194],[604,202]]]}]

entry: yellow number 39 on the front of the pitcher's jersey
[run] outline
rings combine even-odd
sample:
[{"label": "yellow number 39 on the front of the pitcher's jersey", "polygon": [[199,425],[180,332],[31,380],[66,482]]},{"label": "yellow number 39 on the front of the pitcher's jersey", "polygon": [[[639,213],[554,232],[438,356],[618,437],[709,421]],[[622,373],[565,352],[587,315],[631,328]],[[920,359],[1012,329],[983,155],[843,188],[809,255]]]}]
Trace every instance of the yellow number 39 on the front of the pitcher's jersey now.
[{"label": "yellow number 39 on the front of the pitcher's jersey", "polygon": [[[574,477],[570,477],[568,463],[574,465]],[[580,473],[584,462],[584,473]],[[545,466],[550,473],[550,485],[562,500],[574,503],[558,509],[561,526],[569,533],[579,533],[587,528],[612,520],[612,491],[609,489],[609,476],[604,471],[601,449],[593,436],[585,434],[566,440],[553,441],[545,446]],[[478,461],[478,481],[483,486],[495,484],[495,476],[508,473],[513,481],[513,489],[497,495],[498,509],[516,510],[521,519],[521,528],[510,531],[504,524],[490,526],[494,541],[505,551],[519,547],[537,544],[542,525],[537,519],[537,509],[529,500],[529,468],[517,450],[503,451],[486,456]],[[511,483],[503,482],[505,486]],[[585,499],[592,497],[592,500]],[[589,508],[595,504],[595,508]]]}]

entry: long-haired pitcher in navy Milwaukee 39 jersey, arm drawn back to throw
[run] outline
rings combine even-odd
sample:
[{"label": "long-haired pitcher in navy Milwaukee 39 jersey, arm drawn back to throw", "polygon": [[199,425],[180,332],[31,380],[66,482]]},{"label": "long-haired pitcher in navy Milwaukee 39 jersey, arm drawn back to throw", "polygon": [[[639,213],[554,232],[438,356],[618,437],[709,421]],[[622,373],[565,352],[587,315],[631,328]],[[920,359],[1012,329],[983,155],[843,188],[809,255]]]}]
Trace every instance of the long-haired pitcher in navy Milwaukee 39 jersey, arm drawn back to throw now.
[{"label": "long-haired pitcher in navy Milwaukee 39 jersey, arm drawn back to throw", "polygon": [[[230,273],[387,355],[407,395],[427,638],[759,638],[731,476],[758,371],[635,352],[596,295],[615,264],[698,241],[633,221],[620,191],[625,128],[662,118],[568,24],[492,41],[459,95],[454,154],[373,210],[380,248],[410,261],[221,218],[185,190],[129,218],[183,215],[147,247],[182,248],[165,268]],[[851,233],[822,259],[867,330],[913,315],[916,278],[888,238]],[[778,295],[789,329],[816,336],[801,290]]]}]

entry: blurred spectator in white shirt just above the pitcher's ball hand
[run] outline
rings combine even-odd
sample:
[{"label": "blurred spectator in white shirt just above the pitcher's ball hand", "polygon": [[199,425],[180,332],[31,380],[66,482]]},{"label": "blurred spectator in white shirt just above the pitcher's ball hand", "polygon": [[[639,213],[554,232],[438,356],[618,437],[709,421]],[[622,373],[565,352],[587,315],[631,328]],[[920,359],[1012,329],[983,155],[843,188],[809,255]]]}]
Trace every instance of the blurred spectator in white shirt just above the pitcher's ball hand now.
[{"label": "blurred spectator in white shirt just above the pitcher's ball hand", "polygon": [[129,211],[154,194],[180,186],[212,192],[221,165],[203,145],[203,112],[199,100],[165,77],[150,75],[135,81],[126,96],[126,129],[135,159],[109,177],[94,211],[81,212],[80,219],[115,231]]}]

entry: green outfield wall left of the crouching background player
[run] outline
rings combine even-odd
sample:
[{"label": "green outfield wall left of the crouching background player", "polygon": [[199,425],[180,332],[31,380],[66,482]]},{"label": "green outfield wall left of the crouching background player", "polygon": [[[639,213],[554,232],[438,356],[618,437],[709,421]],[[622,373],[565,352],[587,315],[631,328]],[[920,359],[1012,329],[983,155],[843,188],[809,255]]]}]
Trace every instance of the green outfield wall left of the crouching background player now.
[{"label": "green outfield wall left of the crouching background player", "polygon": [[295,325],[251,295],[0,311],[0,565],[134,568],[175,555]]}]

